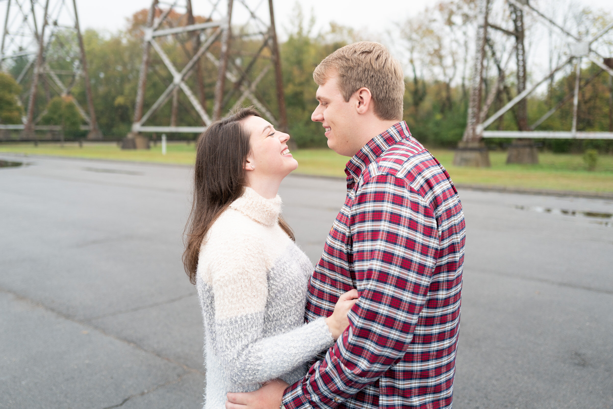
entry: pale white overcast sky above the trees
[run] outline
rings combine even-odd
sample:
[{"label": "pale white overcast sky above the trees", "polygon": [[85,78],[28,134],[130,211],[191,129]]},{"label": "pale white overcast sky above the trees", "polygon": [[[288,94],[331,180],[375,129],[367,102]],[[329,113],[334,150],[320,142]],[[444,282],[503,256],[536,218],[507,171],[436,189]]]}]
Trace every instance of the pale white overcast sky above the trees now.
[{"label": "pale white overcast sky above the trees", "polygon": [[[317,20],[318,28],[327,26],[330,21],[356,29],[366,28],[369,32],[383,32],[395,21],[402,21],[414,15],[435,0],[298,0],[307,13],[311,9]],[[593,9],[604,9],[613,12],[613,0],[581,0],[577,1]],[[259,1],[249,1],[257,4]],[[137,10],[149,7],[149,0],[77,0],[79,17],[83,28],[107,29],[115,31],[125,26],[126,17]],[[202,4],[208,0],[192,0],[194,12],[198,13]],[[276,0],[275,19],[280,35],[283,35],[284,22],[291,17],[295,1]],[[375,5],[375,6],[373,6]],[[265,4],[262,4],[262,9]],[[543,10],[546,12],[546,10]]]}]

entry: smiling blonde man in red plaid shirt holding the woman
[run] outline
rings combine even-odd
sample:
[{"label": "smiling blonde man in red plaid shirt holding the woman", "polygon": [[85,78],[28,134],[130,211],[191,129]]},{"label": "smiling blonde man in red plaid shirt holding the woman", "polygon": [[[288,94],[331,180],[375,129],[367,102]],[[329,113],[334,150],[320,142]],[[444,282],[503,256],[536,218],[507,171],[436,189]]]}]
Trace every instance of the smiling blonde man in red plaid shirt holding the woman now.
[{"label": "smiling blonde man in red plaid shirt holding the woman", "polygon": [[402,120],[402,67],[358,42],[313,72],[347,197],[309,281],[306,320],[356,288],[349,327],[302,380],[227,394],[228,409],[451,408],[465,224],[447,171]]}]

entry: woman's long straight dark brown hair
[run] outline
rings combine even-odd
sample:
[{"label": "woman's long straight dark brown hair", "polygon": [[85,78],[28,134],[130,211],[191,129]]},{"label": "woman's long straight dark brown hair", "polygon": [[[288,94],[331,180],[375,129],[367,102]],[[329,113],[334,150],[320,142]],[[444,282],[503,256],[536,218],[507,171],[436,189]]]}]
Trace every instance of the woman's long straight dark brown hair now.
[{"label": "woman's long straight dark brown hair", "polygon": [[[252,107],[238,109],[229,117],[211,123],[198,141],[194,199],[185,226],[183,252],[183,266],[194,285],[202,241],[219,215],[245,191],[245,162],[251,147],[249,133],[241,121],[251,116],[261,117]],[[281,217],[279,225],[295,241],[294,232]]]}]

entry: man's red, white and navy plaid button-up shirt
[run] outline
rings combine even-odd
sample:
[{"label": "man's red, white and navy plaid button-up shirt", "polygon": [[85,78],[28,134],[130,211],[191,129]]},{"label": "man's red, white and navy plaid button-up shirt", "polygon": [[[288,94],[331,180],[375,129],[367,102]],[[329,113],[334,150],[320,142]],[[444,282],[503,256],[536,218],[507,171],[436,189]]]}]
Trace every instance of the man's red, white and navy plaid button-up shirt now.
[{"label": "man's red, white and navy plaid button-up shirt", "polygon": [[465,242],[457,191],[404,121],[345,172],[345,205],[311,277],[306,319],[329,316],[352,288],[360,298],[283,405],[451,408]]}]

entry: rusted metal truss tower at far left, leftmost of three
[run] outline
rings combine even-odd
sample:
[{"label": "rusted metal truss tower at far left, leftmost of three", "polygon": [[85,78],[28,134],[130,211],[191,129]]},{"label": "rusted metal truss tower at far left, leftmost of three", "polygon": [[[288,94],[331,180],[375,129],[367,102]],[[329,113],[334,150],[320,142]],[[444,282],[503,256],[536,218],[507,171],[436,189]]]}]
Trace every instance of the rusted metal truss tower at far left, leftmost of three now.
[{"label": "rusted metal truss tower at far left, leftmost of three", "polygon": [[[55,130],[57,126],[39,126],[37,123],[45,115],[36,111],[36,99],[44,89],[47,98],[51,91],[59,96],[72,96],[71,91],[77,81],[82,78],[85,83],[87,111],[80,102],[72,96],[77,111],[87,123],[81,128],[89,130],[88,139],[101,139],[102,134],[96,123],[91,85],[83,37],[78,22],[77,4],[75,0],[5,0],[6,15],[4,15],[4,30],[0,43],[0,69],[15,71],[15,80],[20,85],[29,85],[22,100],[27,98],[26,115],[22,124],[0,124],[0,129],[23,129],[26,137],[33,137],[35,130]],[[66,36],[66,33],[70,33]],[[61,44],[60,44],[61,42]],[[70,44],[66,44],[69,42]],[[63,53],[64,68],[56,69],[53,47],[69,50]],[[70,52],[72,48],[72,51]],[[23,67],[22,67],[23,66]],[[55,68],[54,68],[55,67]],[[26,88],[26,87],[23,87]]]}]

